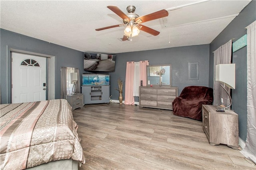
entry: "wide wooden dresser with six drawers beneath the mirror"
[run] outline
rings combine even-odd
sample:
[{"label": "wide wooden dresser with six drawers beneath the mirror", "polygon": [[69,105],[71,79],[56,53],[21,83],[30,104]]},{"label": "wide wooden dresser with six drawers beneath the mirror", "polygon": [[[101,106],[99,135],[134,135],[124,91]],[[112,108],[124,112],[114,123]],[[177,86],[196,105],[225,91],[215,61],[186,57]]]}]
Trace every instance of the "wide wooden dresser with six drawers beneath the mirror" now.
[{"label": "wide wooden dresser with six drawers beneath the mirror", "polygon": [[140,87],[140,107],[172,110],[172,101],[178,96],[178,87]]}]

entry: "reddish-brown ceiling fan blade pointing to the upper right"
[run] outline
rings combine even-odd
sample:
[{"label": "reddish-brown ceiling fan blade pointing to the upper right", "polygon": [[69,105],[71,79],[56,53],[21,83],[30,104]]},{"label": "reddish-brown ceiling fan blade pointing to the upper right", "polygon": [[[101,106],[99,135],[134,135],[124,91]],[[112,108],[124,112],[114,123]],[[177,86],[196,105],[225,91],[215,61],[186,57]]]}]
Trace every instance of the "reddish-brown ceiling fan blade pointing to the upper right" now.
[{"label": "reddish-brown ceiling fan blade pointing to the upper right", "polygon": [[141,16],[135,19],[137,23],[143,23],[151,20],[156,20],[158,18],[167,17],[169,15],[169,12],[166,10],[160,10],[158,12],[154,12],[152,14],[148,14],[146,16]]}]

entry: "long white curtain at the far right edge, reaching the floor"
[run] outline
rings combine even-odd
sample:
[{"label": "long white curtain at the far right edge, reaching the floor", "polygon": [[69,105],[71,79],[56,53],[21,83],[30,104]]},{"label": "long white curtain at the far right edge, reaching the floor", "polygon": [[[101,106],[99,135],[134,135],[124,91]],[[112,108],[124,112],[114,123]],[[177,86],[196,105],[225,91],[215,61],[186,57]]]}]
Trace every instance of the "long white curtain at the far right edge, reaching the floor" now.
[{"label": "long white curtain at the far right edge, reaching the floor", "polygon": [[256,21],[247,29],[247,137],[242,154],[256,163]]}]

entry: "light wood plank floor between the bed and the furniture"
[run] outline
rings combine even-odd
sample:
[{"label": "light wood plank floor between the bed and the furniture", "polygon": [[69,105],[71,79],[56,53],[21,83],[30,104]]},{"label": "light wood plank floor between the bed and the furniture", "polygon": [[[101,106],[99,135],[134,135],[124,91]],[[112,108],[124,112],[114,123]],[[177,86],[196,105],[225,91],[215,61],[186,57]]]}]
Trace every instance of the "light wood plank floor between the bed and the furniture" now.
[{"label": "light wood plank floor between the bed and the furniture", "polygon": [[86,157],[80,170],[256,169],[238,150],[211,146],[201,121],[170,110],[110,103],[73,115]]}]

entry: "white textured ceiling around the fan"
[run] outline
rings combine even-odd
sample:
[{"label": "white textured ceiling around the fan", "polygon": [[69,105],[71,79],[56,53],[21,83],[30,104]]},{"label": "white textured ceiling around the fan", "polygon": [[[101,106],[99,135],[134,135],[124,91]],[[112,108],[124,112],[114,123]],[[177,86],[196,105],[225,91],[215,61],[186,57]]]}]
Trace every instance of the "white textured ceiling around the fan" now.
[{"label": "white textured ceiling around the fan", "polygon": [[[1,0],[0,27],[79,51],[114,54],[209,44],[248,3],[250,0]],[[120,41],[124,26],[95,31],[122,24],[109,5],[124,13],[128,5],[134,5],[139,16],[165,9],[169,16],[143,23],[160,31],[159,35],[140,31],[132,41]]]}]

